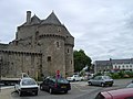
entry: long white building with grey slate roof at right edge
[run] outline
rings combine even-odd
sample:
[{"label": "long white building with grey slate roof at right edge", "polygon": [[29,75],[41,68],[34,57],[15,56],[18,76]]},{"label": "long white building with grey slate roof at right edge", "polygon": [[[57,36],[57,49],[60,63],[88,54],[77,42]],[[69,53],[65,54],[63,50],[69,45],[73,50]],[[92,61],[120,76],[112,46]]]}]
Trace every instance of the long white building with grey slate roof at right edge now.
[{"label": "long white building with grey slate roof at right edge", "polygon": [[95,61],[94,72],[127,70],[133,72],[133,58]]}]

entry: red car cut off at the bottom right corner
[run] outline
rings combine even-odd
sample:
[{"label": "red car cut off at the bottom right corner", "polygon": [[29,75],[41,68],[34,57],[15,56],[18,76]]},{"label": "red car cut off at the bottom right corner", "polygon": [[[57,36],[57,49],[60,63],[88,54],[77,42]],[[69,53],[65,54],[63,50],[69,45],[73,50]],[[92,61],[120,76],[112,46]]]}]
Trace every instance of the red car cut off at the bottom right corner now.
[{"label": "red car cut off at the bottom right corner", "polygon": [[102,91],[95,99],[133,99],[133,88]]}]

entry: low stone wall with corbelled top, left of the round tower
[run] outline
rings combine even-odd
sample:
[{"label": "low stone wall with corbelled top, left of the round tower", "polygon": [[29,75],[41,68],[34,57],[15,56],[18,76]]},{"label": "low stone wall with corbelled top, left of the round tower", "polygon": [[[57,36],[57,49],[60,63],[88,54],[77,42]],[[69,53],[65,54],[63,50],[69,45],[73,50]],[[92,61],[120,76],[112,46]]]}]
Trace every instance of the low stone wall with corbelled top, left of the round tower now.
[{"label": "low stone wall with corbelled top, left of the round tower", "polygon": [[42,54],[40,53],[0,51],[0,56],[3,77],[18,77],[21,73],[35,77],[41,72]]}]

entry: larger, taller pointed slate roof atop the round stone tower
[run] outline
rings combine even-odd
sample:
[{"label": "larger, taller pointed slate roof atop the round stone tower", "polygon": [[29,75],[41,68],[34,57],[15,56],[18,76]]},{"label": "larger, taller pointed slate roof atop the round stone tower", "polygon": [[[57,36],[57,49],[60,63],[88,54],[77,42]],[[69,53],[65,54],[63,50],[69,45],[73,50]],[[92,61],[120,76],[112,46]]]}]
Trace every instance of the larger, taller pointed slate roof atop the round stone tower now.
[{"label": "larger, taller pointed slate roof atop the round stone tower", "polygon": [[58,25],[61,25],[61,22],[59,21],[59,19],[54,14],[54,12],[52,12],[45,20],[42,21],[42,24],[58,24]]}]

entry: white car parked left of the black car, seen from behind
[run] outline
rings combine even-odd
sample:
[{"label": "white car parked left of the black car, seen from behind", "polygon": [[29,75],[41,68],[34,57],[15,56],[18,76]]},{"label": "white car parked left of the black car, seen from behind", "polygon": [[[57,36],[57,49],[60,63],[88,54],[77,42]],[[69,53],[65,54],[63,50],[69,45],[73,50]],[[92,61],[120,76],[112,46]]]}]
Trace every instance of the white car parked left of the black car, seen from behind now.
[{"label": "white car parked left of the black car, seen from behind", "polygon": [[19,92],[20,97],[24,92],[31,92],[38,96],[39,86],[34,79],[24,77],[14,85],[14,90]]}]

